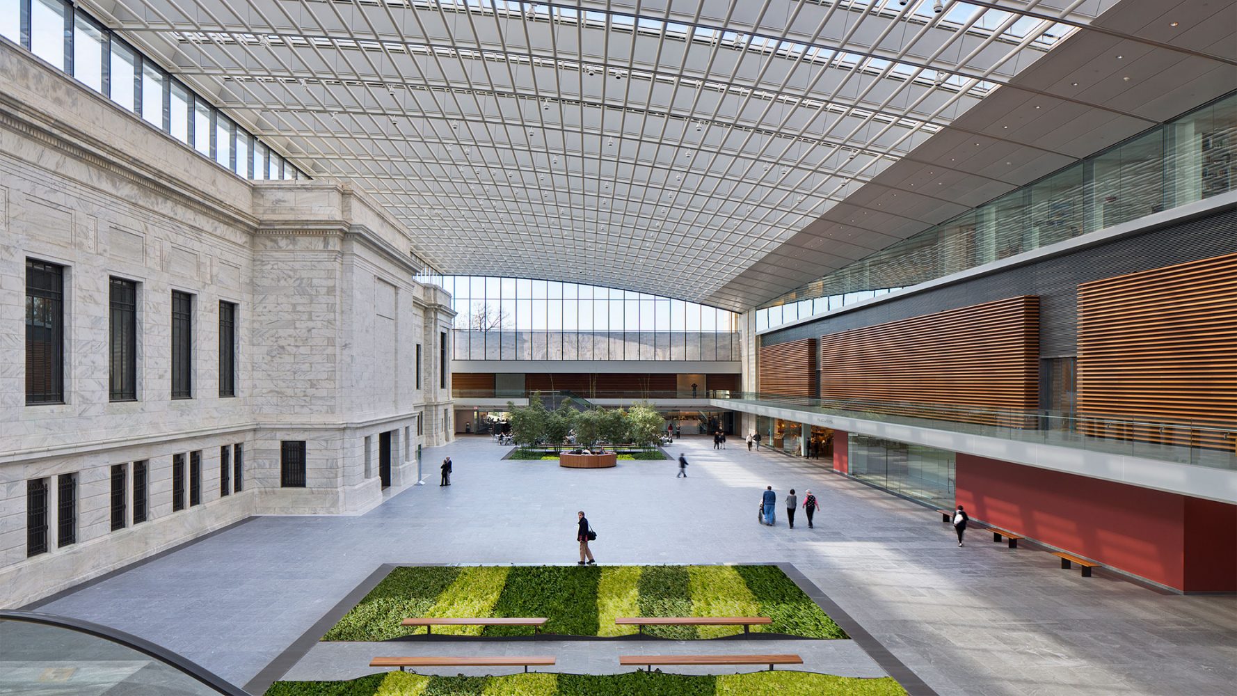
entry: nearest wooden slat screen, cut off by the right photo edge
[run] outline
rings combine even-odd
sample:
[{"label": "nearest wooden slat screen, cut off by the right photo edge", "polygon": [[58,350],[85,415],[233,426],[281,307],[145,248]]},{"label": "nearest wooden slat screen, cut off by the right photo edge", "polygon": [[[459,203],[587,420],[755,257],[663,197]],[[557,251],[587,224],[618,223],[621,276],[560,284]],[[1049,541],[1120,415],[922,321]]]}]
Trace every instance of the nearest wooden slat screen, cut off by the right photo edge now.
[{"label": "nearest wooden slat screen, cut off by the right photo edge", "polygon": [[1077,368],[1080,416],[1221,426],[1084,421],[1084,432],[1233,447],[1237,254],[1079,285]]}]

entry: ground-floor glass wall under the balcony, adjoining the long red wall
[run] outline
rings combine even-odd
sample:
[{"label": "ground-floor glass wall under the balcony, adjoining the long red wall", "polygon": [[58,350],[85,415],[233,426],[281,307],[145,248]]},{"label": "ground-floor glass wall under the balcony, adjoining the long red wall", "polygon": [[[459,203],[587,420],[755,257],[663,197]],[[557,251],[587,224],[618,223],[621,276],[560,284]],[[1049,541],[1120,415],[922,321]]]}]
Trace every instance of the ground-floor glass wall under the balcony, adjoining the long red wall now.
[{"label": "ground-floor glass wall under the balcony, adjoining the long red wall", "polygon": [[952,509],[954,452],[854,433],[849,447],[851,476],[907,498]]}]

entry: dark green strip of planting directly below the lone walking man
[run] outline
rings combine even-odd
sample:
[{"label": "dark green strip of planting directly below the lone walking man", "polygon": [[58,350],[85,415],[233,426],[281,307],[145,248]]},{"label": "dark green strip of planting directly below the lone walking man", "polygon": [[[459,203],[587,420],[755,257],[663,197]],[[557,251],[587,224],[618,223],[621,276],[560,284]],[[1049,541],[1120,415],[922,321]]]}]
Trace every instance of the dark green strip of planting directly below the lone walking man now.
[{"label": "dark green strip of planting directly below the lone walking man", "polygon": [[[495,617],[544,617],[547,633],[597,634],[596,566],[517,566],[494,604]],[[487,625],[484,635],[527,635],[532,627]]]}]

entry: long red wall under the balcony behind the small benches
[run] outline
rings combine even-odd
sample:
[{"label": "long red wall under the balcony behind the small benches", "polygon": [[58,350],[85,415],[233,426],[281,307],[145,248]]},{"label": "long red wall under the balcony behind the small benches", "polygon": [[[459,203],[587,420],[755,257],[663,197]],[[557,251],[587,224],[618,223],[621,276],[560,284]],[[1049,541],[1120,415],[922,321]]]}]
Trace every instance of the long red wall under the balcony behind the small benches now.
[{"label": "long red wall under the balcony behind the small benches", "polygon": [[1235,505],[961,453],[956,483],[995,526],[1178,589],[1237,591]]}]

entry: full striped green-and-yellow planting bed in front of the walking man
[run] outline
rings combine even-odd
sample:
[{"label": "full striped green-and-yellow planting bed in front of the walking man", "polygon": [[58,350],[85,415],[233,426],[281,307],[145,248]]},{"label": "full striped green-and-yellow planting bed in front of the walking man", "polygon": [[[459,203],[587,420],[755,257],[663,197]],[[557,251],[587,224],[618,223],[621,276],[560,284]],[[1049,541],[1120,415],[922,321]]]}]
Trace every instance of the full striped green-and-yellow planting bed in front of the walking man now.
[{"label": "full striped green-and-yellow planting bed in front of the walking man", "polygon": [[[846,638],[777,566],[412,566],[391,571],[323,640],[390,640],[426,633],[407,617],[546,617],[563,635],[625,635],[616,617],[762,616],[752,630]],[[666,638],[717,638],[742,627],[647,627]],[[434,633],[527,635],[532,627],[435,627]]]}]

